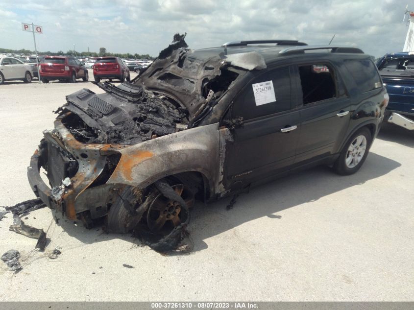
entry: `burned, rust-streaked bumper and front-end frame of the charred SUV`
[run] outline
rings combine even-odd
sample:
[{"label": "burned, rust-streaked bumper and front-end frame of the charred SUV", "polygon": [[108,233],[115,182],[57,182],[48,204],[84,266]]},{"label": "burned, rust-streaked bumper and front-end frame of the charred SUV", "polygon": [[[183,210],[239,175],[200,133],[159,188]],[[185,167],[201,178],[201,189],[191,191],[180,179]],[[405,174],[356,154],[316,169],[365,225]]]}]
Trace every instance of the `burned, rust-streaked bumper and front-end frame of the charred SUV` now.
[{"label": "burned, rust-streaked bumper and front-end frame of the charred SUV", "polygon": [[[27,168],[30,187],[49,208],[62,212],[69,219],[74,220],[85,211],[90,211],[92,219],[104,216],[108,204],[112,203],[114,195],[122,188],[122,185],[102,182],[94,184],[94,181],[105,168],[107,155],[116,153],[124,145],[80,143],[62,123],[65,116],[60,116],[55,120],[55,130],[44,131],[43,134],[48,147],[50,143],[50,146],[59,148],[62,152],[68,152],[76,159],[78,169],[70,177],[71,184],[64,187],[62,195],[56,196],[53,193],[54,188],[51,190],[40,176],[42,163],[50,161],[48,150],[41,152],[36,150]],[[51,172],[48,171],[49,173]]]}]

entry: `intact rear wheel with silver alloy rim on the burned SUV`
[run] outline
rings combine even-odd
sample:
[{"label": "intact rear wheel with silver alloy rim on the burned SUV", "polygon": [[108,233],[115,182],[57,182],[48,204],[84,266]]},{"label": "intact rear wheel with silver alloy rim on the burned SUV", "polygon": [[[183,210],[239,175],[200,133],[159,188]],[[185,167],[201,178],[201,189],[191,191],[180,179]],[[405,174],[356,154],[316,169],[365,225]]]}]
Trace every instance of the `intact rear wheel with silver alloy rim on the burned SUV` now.
[{"label": "intact rear wheel with silver alloy rim on the burned SUV", "polygon": [[354,133],[343,146],[340,156],[334,164],[335,172],[350,175],[357,172],[368,156],[372,143],[371,133],[363,127]]}]

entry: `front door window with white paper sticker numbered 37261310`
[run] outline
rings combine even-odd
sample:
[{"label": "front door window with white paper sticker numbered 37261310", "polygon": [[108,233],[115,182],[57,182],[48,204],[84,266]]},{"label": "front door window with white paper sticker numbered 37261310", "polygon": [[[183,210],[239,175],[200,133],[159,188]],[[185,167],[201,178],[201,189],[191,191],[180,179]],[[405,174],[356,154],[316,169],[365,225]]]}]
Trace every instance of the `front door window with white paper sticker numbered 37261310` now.
[{"label": "front door window with white paper sticker numbered 37261310", "polygon": [[289,67],[265,72],[244,87],[231,110],[232,118],[255,119],[291,109]]}]

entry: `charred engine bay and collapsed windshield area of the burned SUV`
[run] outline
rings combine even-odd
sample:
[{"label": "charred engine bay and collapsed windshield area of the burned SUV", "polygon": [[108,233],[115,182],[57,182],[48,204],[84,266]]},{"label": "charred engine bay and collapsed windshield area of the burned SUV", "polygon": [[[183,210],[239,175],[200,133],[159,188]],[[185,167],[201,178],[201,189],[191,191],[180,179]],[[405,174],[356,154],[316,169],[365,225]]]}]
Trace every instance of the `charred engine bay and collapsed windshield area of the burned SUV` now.
[{"label": "charred engine bay and collapsed windshield area of the burned SUV", "polygon": [[192,58],[184,37],[175,35],[131,83],[97,83],[104,94],[82,89],[68,95],[56,113],[73,112],[63,123],[76,140],[136,144],[191,128],[205,117],[240,72],[219,55]]}]

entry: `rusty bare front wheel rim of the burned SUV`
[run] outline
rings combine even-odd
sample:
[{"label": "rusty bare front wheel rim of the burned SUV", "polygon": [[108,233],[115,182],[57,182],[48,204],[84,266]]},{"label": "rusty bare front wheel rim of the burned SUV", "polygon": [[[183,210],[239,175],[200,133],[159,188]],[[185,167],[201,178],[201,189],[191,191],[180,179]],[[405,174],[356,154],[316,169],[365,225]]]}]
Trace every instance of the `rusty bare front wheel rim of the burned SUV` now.
[{"label": "rusty bare front wheel rim of the burned SUV", "polygon": [[[186,186],[173,185],[174,191],[183,198],[187,207],[191,208],[194,204],[194,194]],[[146,222],[151,232],[156,234],[168,234],[170,231],[185,222],[186,213],[182,212],[179,202],[173,201],[163,194],[158,194],[148,208]]]}]

